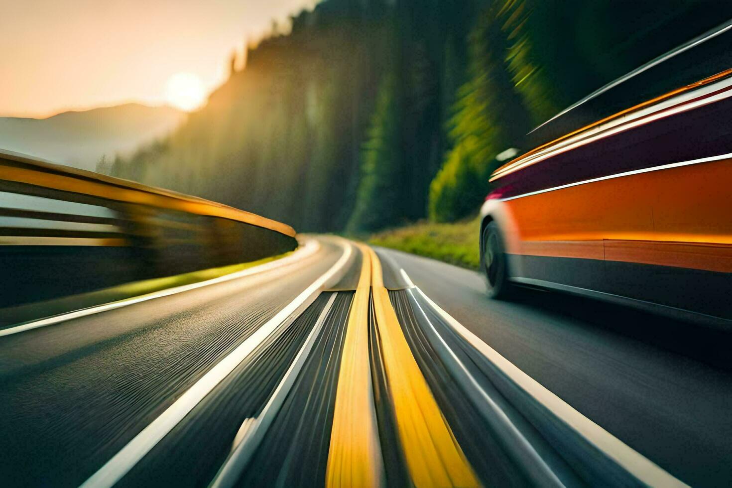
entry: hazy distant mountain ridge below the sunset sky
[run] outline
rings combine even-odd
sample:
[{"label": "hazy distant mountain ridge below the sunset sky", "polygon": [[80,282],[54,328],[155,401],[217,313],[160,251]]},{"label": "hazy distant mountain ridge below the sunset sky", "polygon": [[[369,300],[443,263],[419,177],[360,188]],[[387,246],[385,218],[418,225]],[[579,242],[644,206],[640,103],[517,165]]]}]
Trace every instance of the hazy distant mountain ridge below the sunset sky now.
[{"label": "hazy distant mountain ridge below the sunset sky", "polygon": [[171,107],[127,103],[59,113],[48,119],[0,117],[0,149],[94,170],[105,156],[130,156],[187,119]]}]

